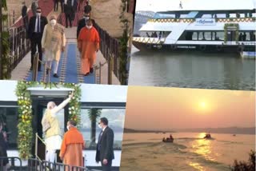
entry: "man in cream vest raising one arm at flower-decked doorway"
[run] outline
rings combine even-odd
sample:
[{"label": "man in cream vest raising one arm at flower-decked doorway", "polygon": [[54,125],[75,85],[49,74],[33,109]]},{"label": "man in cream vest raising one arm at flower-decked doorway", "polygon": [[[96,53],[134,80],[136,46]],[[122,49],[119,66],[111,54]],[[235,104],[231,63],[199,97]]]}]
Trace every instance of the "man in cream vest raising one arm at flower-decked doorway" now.
[{"label": "man in cream vest raising one arm at flower-decked doorway", "polygon": [[55,105],[54,101],[47,104],[46,113],[42,117],[42,127],[46,126],[46,121],[49,123],[50,128],[46,129],[45,142],[46,142],[46,161],[54,162],[56,150],[61,149],[62,145],[62,132],[60,129],[59,121],[56,114],[63,109],[73,97],[73,93],[60,105]]}]

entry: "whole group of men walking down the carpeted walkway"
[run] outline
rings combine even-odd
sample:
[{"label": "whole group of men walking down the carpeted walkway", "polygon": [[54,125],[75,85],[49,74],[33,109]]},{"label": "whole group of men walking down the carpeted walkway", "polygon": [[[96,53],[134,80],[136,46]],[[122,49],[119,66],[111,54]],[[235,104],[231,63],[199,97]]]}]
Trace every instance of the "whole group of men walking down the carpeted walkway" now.
[{"label": "whole group of men walking down the carpeted walkway", "polygon": [[[59,2],[62,6],[62,12],[66,16],[66,28],[69,23],[70,27],[72,27],[74,15],[77,10],[81,9],[84,0],[54,0],[54,11],[58,10]],[[35,11],[34,7],[36,7]],[[34,16],[29,19],[26,4],[23,2],[22,18],[31,44],[30,70],[33,70],[34,55],[38,50],[38,71],[42,71],[42,62],[46,62],[46,74],[52,74],[52,64],[54,63],[53,77],[58,78],[58,63],[62,52],[66,50],[65,26],[57,22],[58,16],[55,14],[51,14],[48,22],[46,16],[42,16],[42,9],[38,6],[37,0],[34,0],[31,9],[34,11]],[[93,68],[96,62],[96,53],[99,50],[100,39],[98,31],[94,28],[95,22],[90,18],[92,9],[88,1],[86,1],[83,10],[83,17],[78,21],[77,41],[81,57],[80,74],[87,76],[94,72]],[[43,54],[44,58],[42,58]]]}]

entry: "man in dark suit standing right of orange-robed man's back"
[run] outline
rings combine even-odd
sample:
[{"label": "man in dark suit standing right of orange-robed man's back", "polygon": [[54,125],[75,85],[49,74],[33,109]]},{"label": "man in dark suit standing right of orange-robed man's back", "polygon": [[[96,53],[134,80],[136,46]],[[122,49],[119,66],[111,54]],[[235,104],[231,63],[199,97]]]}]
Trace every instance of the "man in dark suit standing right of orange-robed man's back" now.
[{"label": "man in dark suit standing right of orange-robed man's back", "polygon": [[108,126],[106,117],[102,117],[98,125],[102,131],[98,136],[96,161],[101,161],[102,171],[111,171],[112,160],[114,159],[114,132]]}]

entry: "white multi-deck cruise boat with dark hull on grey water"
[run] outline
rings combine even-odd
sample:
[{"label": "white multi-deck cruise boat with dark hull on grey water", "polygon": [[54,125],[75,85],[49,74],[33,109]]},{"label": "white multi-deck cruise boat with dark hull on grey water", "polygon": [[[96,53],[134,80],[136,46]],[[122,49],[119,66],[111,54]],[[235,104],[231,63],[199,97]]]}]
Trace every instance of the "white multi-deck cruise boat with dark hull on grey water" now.
[{"label": "white multi-deck cruise boat with dark hull on grey water", "polygon": [[[134,35],[139,50],[242,52],[255,46],[254,0],[193,0],[159,11]],[[168,4],[166,4],[168,6]]]}]

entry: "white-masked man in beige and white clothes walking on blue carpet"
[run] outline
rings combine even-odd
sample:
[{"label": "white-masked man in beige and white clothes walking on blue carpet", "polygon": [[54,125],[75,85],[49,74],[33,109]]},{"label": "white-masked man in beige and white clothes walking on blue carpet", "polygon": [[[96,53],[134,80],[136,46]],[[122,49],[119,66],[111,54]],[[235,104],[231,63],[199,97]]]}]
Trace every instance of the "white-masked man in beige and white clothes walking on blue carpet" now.
[{"label": "white-masked man in beige and white clothes walking on blue carpet", "polygon": [[58,62],[62,52],[65,50],[65,46],[64,26],[57,23],[55,15],[51,15],[50,23],[45,26],[42,34],[42,52],[45,53],[47,74],[49,74],[54,61],[54,78],[58,78]]}]

